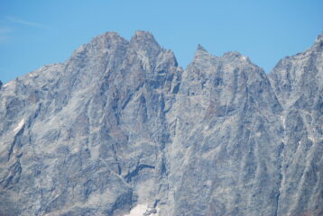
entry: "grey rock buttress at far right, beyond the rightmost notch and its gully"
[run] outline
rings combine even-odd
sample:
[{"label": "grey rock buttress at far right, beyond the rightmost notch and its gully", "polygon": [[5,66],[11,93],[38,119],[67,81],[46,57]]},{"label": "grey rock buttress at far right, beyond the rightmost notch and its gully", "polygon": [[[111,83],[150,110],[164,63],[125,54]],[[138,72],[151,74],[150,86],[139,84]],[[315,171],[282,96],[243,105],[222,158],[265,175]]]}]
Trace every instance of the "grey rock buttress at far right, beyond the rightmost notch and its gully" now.
[{"label": "grey rock buttress at far right, beyond the rightmost notch and its gully", "polygon": [[284,112],[279,215],[323,214],[323,34],[269,74]]}]

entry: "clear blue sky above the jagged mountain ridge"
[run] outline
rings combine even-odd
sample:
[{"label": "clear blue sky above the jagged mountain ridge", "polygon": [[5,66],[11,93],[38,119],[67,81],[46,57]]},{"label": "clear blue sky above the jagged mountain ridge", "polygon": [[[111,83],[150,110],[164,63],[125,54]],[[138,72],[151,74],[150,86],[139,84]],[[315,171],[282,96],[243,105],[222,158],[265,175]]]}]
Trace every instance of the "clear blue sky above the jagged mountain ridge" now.
[{"label": "clear blue sky above the jagged mountain ridge", "polygon": [[94,36],[151,31],[186,67],[198,43],[269,72],[323,31],[322,0],[0,0],[0,80],[63,62]]}]

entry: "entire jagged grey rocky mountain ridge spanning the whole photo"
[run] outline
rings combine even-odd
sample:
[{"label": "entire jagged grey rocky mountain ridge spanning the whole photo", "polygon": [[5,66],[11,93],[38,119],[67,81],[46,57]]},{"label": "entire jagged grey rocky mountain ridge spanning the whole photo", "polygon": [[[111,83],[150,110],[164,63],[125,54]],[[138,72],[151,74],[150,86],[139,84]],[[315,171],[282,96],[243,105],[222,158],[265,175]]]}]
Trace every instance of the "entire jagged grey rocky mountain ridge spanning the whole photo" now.
[{"label": "entire jagged grey rocky mountain ridge spanning the whole photo", "polygon": [[266,74],[106,32],[0,102],[0,215],[323,215],[323,34]]}]

